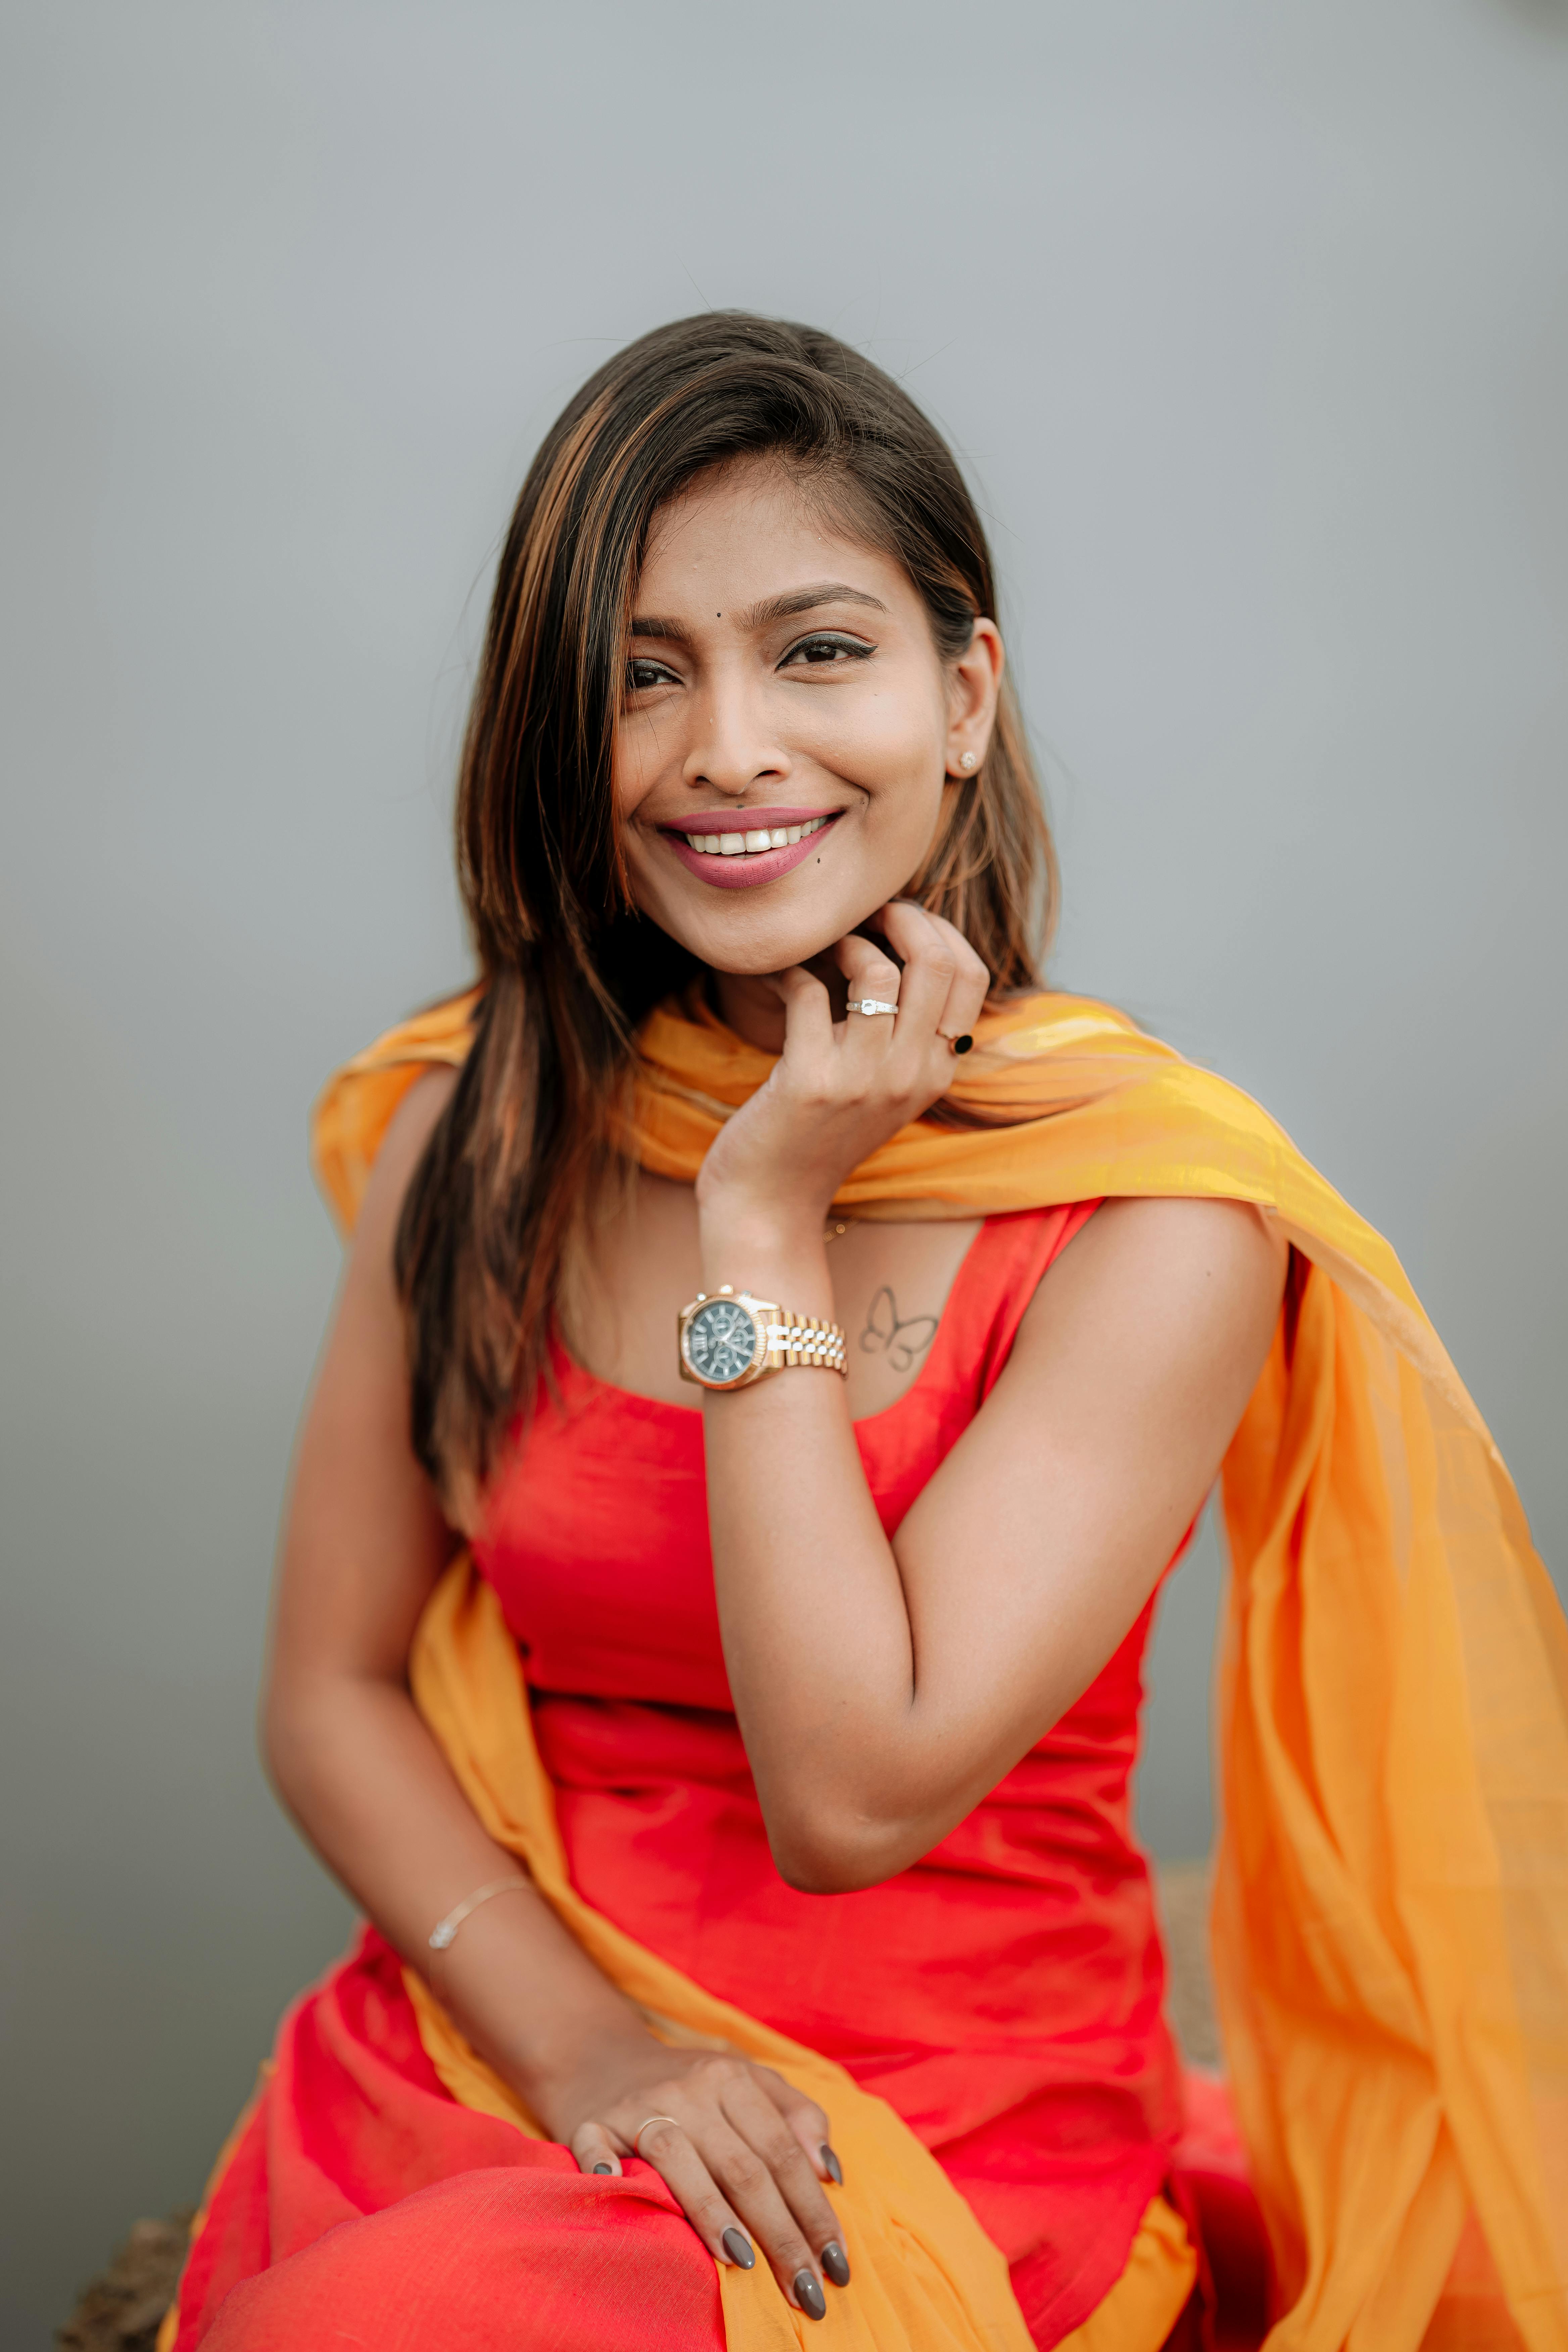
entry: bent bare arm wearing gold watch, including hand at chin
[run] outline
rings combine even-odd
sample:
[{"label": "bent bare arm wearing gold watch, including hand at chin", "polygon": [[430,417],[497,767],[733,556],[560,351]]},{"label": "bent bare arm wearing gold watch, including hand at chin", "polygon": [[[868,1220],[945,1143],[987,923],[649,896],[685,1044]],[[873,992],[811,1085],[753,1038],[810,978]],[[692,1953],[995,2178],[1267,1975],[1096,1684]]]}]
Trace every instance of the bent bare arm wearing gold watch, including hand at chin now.
[{"label": "bent bare arm wearing gold watch, including hand at chin", "polygon": [[[957,934],[912,908],[896,924],[903,974],[863,938],[839,955],[851,993],[898,990],[905,1058],[893,1023],[865,1016],[835,1042],[825,990],[790,978],[778,1101],[738,1112],[698,1181],[708,1289],[832,1312],[832,1181],[938,1091],[936,1021],[966,1028],[978,1009],[943,1016],[964,985]],[[940,934],[952,946],[933,955]],[[969,988],[983,985],[976,967]],[[1284,1256],[1237,1202],[1100,1209],[893,1543],[837,1378],[785,1371],[705,1399],[724,1658],[795,1886],[867,1886],[914,1863],[1088,1686],[1215,1477],[1269,1348]]]}]

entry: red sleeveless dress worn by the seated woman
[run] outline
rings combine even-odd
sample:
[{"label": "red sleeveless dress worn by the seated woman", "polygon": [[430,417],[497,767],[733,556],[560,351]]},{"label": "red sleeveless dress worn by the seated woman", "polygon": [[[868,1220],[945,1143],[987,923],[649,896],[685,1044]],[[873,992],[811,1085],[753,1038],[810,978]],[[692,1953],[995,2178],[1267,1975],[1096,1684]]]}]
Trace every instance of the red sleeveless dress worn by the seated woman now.
[{"label": "red sleeveless dress worn by the seated woman", "polygon": [[[1091,1214],[990,1218],[914,1385],[856,1425],[889,1534]],[[922,1863],[860,1893],[797,1893],[773,1870],[724,1677],[701,1409],[609,1388],[559,1352],[557,1374],[475,1557],[522,1646],[576,1886],[886,2098],[1009,2256],[1034,2340],[1058,2343],[1126,2265],[1182,2129],[1128,1818],[1154,1604]],[[712,2263],[658,2176],[583,2178],[567,2150],[458,2107],[367,1931],[284,2020],[221,2171],[181,2291],[179,2352],[202,2340],[719,2352],[724,2336]]]}]

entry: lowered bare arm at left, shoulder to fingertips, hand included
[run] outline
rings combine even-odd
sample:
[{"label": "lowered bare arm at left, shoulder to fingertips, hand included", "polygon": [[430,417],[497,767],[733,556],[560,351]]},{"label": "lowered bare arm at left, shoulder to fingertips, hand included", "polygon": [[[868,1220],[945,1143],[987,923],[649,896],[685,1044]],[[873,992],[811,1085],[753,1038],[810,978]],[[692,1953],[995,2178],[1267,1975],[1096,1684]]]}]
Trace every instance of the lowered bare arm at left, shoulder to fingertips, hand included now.
[{"label": "lowered bare arm at left, shoulder to fingertips, hand included", "polygon": [[[435,1922],[473,1889],[517,1875],[447,1771],[407,1684],[418,1613],[458,1538],[409,1446],[393,1237],[449,1089],[447,1075],[411,1089],[371,1174],[299,1439],[261,1717],[282,1802],[423,1973],[433,1973]],[[644,2136],[642,2154],[703,2241],[719,2260],[750,2265],[750,2230],[790,2300],[820,2303],[818,2274],[837,2277],[842,2265],[820,2192],[820,2107],[766,2067],[656,2042],[531,1889],[475,1910],[433,1980],[475,2049],[583,2171],[621,2171],[644,2117],[682,2117],[686,2131]],[[724,2244],[738,2225],[743,2253],[733,2237]]]}]

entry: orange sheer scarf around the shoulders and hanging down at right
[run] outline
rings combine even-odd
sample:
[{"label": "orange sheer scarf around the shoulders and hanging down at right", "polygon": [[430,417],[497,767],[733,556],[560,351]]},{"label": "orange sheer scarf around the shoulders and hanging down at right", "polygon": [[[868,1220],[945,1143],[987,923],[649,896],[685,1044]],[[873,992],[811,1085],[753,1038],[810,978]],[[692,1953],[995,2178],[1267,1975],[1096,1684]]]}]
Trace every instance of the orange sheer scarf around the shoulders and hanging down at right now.
[{"label": "orange sheer scarf around the shoulders and hanging down at right", "polygon": [[[327,1089],[317,1169],[346,1221],[470,1007]],[[639,1049],[628,1148],[689,1181],[771,1061],[696,1000]],[[1568,1630],[1497,1449],[1394,1251],[1234,1087],[1041,995],[980,1021],[952,1094],[1004,1124],[919,1122],[835,1207],[1227,1197],[1300,1254],[1225,1461],[1213,1955],[1269,2343],[1568,2352]]]}]

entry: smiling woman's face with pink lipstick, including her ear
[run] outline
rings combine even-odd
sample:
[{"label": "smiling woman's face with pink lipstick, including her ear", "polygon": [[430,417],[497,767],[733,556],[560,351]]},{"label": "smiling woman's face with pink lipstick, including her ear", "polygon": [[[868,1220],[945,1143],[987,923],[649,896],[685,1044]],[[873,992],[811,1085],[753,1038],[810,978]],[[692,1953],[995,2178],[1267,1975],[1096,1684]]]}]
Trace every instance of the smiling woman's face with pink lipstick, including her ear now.
[{"label": "smiling woman's face with pink lipstick, including her ear", "polygon": [[1001,640],[943,663],[919,593],[778,466],[654,524],[616,727],[644,915],[719,974],[802,964],[900,896],[985,757]]}]

